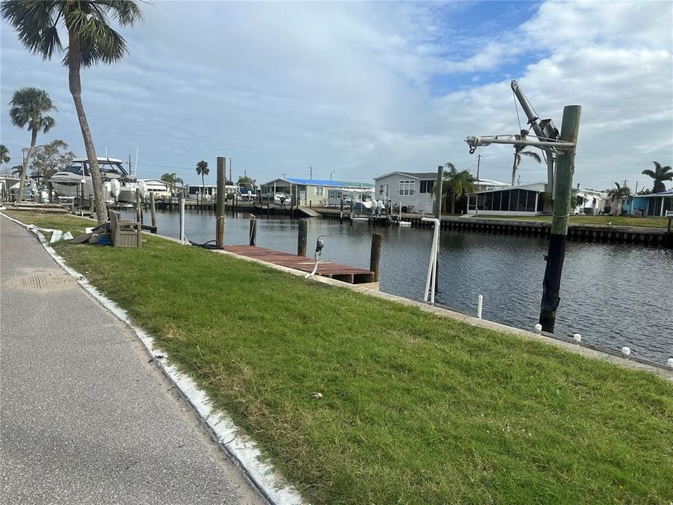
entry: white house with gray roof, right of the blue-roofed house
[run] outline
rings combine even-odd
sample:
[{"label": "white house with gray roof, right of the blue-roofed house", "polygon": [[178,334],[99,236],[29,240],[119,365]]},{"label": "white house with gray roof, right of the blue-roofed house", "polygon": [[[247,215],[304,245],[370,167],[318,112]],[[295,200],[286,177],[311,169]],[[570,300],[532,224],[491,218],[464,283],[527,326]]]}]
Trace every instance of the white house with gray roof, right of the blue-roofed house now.
[{"label": "white house with gray roof, right of the blue-roofed house", "polygon": [[374,177],[376,199],[401,204],[402,212],[432,213],[437,172],[395,171]]}]

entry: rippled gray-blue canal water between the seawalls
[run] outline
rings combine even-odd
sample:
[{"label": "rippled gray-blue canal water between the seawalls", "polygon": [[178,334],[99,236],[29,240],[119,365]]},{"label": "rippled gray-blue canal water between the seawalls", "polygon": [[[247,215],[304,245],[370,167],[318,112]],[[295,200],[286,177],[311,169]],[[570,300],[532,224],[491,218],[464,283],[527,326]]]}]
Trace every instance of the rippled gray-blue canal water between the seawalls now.
[{"label": "rippled gray-blue canal water between the seawalls", "polygon": [[[149,216],[147,216],[149,217]],[[146,218],[147,222],[147,218]],[[158,233],[178,237],[177,213],[157,213]],[[257,245],[297,253],[297,220],[261,217]],[[188,212],[186,238],[215,238],[215,215]],[[248,216],[226,217],[225,244],[247,244]],[[308,255],[325,235],[322,259],[369,269],[372,233],[383,235],[381,291],[422,299],[430,229],[372,227],[308,220]],[[531,330],[538,322],[545,270],[545,238],[442,231],[439,293],[445,307]],[[563,268],[557,335],[580,333],[584,342],[666,363],[673,357],[673,250],[636,245],[569,242]]]}]

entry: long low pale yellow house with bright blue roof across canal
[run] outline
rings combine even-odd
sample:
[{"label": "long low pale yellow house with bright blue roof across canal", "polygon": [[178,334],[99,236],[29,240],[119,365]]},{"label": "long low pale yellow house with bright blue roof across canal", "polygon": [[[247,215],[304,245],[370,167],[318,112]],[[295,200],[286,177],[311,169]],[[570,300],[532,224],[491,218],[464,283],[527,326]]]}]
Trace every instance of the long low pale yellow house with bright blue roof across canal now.
[{"label": "long low pale yellow house with bright blue roof across canal", "polygon": [[262,201],[273,201],[276,193],[283,193],[297,198],[299,206],[323,206],[328,201],[338,204],[341,198],[345,199],[352,192],[367,192],[373,187],[373,184],[360,182],[278,177],[261,184],[260,189]]}]

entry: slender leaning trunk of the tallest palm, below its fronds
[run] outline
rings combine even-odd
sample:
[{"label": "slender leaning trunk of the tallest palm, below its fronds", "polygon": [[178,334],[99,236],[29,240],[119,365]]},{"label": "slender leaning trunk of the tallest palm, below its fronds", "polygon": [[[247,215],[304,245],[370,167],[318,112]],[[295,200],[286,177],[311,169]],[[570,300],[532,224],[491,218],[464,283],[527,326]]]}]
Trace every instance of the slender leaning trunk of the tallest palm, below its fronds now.
[{"label": "slender leaning trunk of the tallest palm, below its fronds", "polygon": [[89,161],[91,184],[93,185],[93,200],[96,206],[96,219],[98,224],[102,224],[107,222],[107,205],[105,204],[105,196],[103,195],[103,179],[100,175],[96,149],[93,145],[91,130],[89,130],[89,123],[86,121],[86,114],[84,113],[84,105],[82,103],[80,43],[79,39],[72,36],[72,31],[70,29],[68,29],[68,32],[70,36],[70,44],[68,47],[68,84],[72,100],[75,102],[77,119],[79,119],[79,127],[82,130],[84,148],[86,149],[86,157]]}]

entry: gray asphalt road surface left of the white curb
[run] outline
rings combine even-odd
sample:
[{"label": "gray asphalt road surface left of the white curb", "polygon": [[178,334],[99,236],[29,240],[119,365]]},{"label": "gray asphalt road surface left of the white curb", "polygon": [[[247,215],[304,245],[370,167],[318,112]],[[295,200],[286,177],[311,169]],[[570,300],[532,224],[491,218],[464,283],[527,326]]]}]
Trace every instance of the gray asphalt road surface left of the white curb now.
[{"label": "gray asphalt road surface left of the white curb", "polygon": [[0,217],[3,504],[263,503],[147,362],[35,236]]}]

